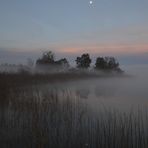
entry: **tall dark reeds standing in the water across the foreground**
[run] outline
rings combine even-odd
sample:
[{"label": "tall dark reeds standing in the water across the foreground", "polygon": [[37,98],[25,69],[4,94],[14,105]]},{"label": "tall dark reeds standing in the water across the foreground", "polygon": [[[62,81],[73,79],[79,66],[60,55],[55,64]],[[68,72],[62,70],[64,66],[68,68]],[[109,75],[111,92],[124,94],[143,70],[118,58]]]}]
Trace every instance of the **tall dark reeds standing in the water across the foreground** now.
[{"label": "tall dark reeds standing in the water across the foreground", "polygon": [[15,76],[0,75],[1,148],[148,147],[147,111],[103,108],[94,114],[68,90],[41,88],[27,75]]}]

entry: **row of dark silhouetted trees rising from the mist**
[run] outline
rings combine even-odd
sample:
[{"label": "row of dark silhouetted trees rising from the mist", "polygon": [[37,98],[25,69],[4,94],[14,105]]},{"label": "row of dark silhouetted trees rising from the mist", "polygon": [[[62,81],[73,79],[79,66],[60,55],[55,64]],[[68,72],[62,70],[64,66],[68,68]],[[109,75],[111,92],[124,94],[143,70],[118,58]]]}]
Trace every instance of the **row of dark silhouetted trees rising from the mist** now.
[{"label": "row of dark silhouetted trees rising from the mist", "polygon": [[[80,57],[77,57],[76,67],[78,69],[88,69],[92,63],[92,59],[88,53],[82,54]],[[42,57],[37,59],[36,66],[43,65],[52,65],[52,66],[61,66],[61,67],[70,67],[70,64],[66,58],[60,60],[55,60],[55,55],[52,51],[47,51],[42,54]],[[119,62],[114,57],[97,57],[95,65],[93,66],[96,70],[102,71],[117,71],[122,72],[119,67]]]}]

